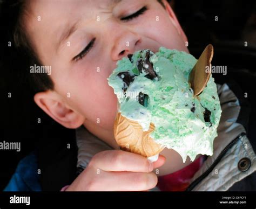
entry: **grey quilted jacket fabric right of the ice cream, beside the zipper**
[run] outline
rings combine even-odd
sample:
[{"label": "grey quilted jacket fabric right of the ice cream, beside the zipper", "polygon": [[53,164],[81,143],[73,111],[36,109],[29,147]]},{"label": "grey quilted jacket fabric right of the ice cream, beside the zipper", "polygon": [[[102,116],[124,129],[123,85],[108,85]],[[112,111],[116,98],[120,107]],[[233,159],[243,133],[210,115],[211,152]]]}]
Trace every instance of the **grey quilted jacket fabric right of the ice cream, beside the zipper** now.
[{"label": "grey quilted jacket fabric right of the ice cream, beside the zipper", "polygon": [[[201,176],[213,164],[227,144],[233,141],[240,133],[245,132],[244,127],[236,122],[240,111],[237,97],[226,84],[217,85],[217,87],[220,103],[223,104],[221,105],[223,113],[218,127],[218,136],[213,143],[213,155],[207,158],[202,168],[191,179],[191,182]],[[251,168],[246,172],[238,170],[238,162],[242,157],[248,157],[251,160]],[[246,136],[242,137],[227,151],[213,171],[192,191],[226,191],[234,183],[254,172],[256,169],[255,163],[256,159],[251,143]]]}]

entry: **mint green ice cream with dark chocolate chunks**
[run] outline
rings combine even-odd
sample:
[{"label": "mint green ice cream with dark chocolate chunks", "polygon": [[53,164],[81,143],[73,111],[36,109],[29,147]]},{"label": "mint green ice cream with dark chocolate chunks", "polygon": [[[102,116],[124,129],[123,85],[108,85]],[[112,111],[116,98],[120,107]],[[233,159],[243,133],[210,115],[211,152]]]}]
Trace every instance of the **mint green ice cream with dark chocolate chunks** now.
[{"label": "mint green ice cream with dark chocolate chunks", "polygon": [[144,131],[155,126],[156,143],[176,150],[183,162],[198,154],[212,155],[221,108],[217,87],[210,78],[199,100],[188,78],[197,59],[191,54],[159,48],[135,52],[117,62],[108,78],[118,97],[119,112],[137,121]]}]

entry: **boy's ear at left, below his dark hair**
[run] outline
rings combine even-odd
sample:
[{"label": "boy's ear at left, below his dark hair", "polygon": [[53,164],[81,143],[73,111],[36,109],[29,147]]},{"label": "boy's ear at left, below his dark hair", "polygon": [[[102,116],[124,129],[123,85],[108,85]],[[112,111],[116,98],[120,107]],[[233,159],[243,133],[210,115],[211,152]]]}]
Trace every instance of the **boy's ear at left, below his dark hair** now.
[{"label": "boy's ear at left, below his dark hair", "polygon": [[51,90],[37,93],[34,101],[53,120],[66,128],[78,128],[85,120],[83,115],[72,110],[59,94]]}]

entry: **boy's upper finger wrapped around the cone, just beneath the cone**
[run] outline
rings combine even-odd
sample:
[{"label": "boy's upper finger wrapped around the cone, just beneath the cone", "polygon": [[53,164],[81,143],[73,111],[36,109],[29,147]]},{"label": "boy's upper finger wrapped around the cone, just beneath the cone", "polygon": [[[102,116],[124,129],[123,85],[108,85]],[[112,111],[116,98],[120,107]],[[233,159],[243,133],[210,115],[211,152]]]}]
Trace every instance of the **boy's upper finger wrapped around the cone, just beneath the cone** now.
[{"label": "boy's upper finger wrapped around the cone, just beneath the cone", "polygon": [[104,171],[151,172],[153,163],[146,157],[122,150],[99,152],[91,163],[95,168]]}]

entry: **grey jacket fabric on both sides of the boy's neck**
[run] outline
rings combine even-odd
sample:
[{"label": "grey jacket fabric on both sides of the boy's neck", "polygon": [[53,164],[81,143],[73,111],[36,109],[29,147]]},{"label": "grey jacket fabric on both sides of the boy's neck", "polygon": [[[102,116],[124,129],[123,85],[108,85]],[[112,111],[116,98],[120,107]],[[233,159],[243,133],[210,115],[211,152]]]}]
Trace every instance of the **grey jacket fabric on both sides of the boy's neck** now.
[{"label": "grey jacket fabric on both sides of the boy's neck", "polygon": [[[232,142],[239,134],[245,132],[244,127],[237,123],[240,105],[237,96],[226,85],[217,85],[220,104],[223,113],[218,127],[218,136],[213,143],[213,155],[208,156],[200,170],[191,179],[191,183],[200,177],[214,163],[221,151]],[[77,129],[78,163],[77,166],[86,168],[90,159],[100,151],[112,148],[92,135],[84,127]],[[241,158],[247,157],[251,167],[246,172],[238,169]],[[241,179],[248,177],[256,171],[256,156],[247,136],[241,137],[221,158],[215,166],[192,191],[227,191]],[[158,189],[155,188],[154,191]]]}]

